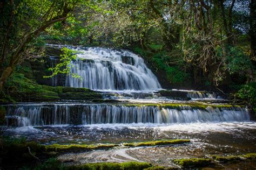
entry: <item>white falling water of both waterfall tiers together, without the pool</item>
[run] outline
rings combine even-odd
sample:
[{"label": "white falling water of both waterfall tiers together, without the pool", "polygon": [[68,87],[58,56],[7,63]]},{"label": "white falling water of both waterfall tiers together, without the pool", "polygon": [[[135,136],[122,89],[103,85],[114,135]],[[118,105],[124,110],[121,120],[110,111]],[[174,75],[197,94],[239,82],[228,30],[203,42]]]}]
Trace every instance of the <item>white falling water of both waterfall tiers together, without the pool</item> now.
[{"label": "white falling water of both waterfall tiers together, without the pool", "polygon": [[[130,124],[130,123],[192,123],[250,121],[247,109],[240,107],[190,107],[187,98],[217,99],[214,93],[193,90],[169,90],[172,95],[157,91],[161,86],[154,74],[146,67],[142,58],[129,51],[109,48],[70,47],[77,51],[77,60],[71,63],[71,74],[82,80],[65,77],[66,86],[103,90],[104,99],[123,99],[129,103],[82,104],[49,103],[7,105],[8,123],[16,126],[41,126],[58,124]],[[56,62],[51,57],[52,63]],[[57,80],[53,80],[56,86]],[[107,92],[107,91],[110,91]],[[143,91],[143,93],[142,93]],[[177,92],[178,91],[178,92]],[[116,93],[116,94],[111,94]],[[187,101],[181,107],[165,108],[156,105],[127,106],[131,103],[169,103],[175,98]],[[178,99],[180,100],[180,99]],[[184,103],[177,102],[176,103]],[[179,105],[179,104],[176,104]],[[192,103],[193,105],[193,103]]]}]

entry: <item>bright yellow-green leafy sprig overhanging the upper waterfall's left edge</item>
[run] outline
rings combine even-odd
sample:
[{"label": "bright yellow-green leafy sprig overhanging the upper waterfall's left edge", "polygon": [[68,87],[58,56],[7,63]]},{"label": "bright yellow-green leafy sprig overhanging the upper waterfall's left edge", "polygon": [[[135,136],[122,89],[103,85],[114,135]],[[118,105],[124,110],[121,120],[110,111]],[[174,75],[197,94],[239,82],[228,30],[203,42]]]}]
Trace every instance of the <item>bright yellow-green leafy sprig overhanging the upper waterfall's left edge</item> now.
[{"label": "bright yellow-green leafy sprig overhanging the upper waterfall's left edge", "polygon": [[[62,48],[61,51],[63,54],[60,54],[60,63],[58,63],[55,67],[49,68],[52,71],[52,75],[44,76],[44,78],[50,78],[56,76],[57,74],[70,74],[71,67],[75,67],[72,64],[72,61],[76,60],[77,55],[76,51],[69,48]],[[72,77],[76,77],[78,79],[82,79],[78,74],[71,73]]]}]

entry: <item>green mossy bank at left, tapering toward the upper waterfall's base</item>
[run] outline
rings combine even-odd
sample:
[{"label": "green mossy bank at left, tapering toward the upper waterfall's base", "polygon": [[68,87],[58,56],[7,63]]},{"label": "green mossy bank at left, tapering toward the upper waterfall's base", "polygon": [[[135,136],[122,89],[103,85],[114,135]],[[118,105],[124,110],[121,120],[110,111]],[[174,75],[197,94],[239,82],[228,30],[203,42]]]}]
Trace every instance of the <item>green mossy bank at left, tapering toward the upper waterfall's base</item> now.
[{"label": "green mossy bank at left, tapering toward the upper waterfall's base", "polygon": [[9,90],[0,101],[58,101],[60,99],[92,100],[102,98],[100,93],[86,88],[51,87],[39,85],[24,74],[13,73],[5,83]]}]

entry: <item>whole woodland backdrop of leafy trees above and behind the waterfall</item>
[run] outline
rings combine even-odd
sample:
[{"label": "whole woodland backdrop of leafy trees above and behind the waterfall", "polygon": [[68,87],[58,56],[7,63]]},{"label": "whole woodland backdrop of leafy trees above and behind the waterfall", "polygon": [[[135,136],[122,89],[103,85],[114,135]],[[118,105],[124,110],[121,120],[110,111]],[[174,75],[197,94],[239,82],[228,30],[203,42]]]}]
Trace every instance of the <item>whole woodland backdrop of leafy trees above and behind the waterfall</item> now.
[{"label": "whole woodland backdrop of leafy trees above and behind the waterfall", "polygon": [[[22,61],[42,56],[44,43],[134,49],[152,63],[155,71],[163,69],[166,79],[178,85],[193,79],[195,84],[198,79],[203,84],[207,79],[205,86],[210,88],[213,84],[230,83],[230,74],[246,75],[251,81],[255,77],[252,66],[255,56],[250,55],[248,47],[249,41],[254,40],[249,40],[254,33],[254,27],[249,27],[249,21],[253,20],[249,3],[227,0],[3,1],[0,88]],[[52,68],[53,74],[69,72],[70,61],[65,58],[62,63]],[[193,77],[199,69],[201,77]],[[240,84],[245,83],[243,77],[237,79]]]}]

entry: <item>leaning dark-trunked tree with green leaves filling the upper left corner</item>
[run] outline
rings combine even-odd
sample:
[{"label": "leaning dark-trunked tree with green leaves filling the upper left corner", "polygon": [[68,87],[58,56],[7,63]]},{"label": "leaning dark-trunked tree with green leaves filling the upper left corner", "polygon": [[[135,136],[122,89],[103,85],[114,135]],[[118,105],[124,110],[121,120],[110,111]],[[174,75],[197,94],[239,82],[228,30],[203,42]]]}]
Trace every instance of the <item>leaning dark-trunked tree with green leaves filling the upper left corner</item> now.
[{"label": "leaning dark-trunked tree with green leaves filling the upper left corner", "polygon": [[[35,55],[35,44],[46,28],[64,22],[77,0],[4,0],[1,12],[0,91],[15,67]],[[33,54],[32,54],[33,53]]]}]

